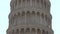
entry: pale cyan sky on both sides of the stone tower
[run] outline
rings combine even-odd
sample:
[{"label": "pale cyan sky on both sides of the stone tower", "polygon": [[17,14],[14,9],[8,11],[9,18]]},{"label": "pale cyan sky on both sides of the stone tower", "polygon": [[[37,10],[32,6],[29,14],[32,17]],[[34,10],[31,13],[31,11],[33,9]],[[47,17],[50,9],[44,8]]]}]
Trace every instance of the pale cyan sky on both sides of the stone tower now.
[{"label": "pale cyan sky on both sides of the stone tower", "polygon": [[[51,1],[52,29],[54,34],[60,34],[60,0]],[[10,0],[0,0],[0,34],[6,34],[8,28],[8,15],[10,13]]]}]

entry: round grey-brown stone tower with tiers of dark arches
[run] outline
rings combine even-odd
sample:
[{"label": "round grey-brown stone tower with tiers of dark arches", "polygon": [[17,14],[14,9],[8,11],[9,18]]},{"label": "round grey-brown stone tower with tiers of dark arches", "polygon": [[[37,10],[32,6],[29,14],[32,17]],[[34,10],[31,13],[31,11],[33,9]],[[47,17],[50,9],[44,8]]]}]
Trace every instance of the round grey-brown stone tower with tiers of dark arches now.
[{"label": "round grey-brown stone tower with tiers of dark arches", "polygon": [[11,0],[7,34],[53,34],[49,0]]}]

